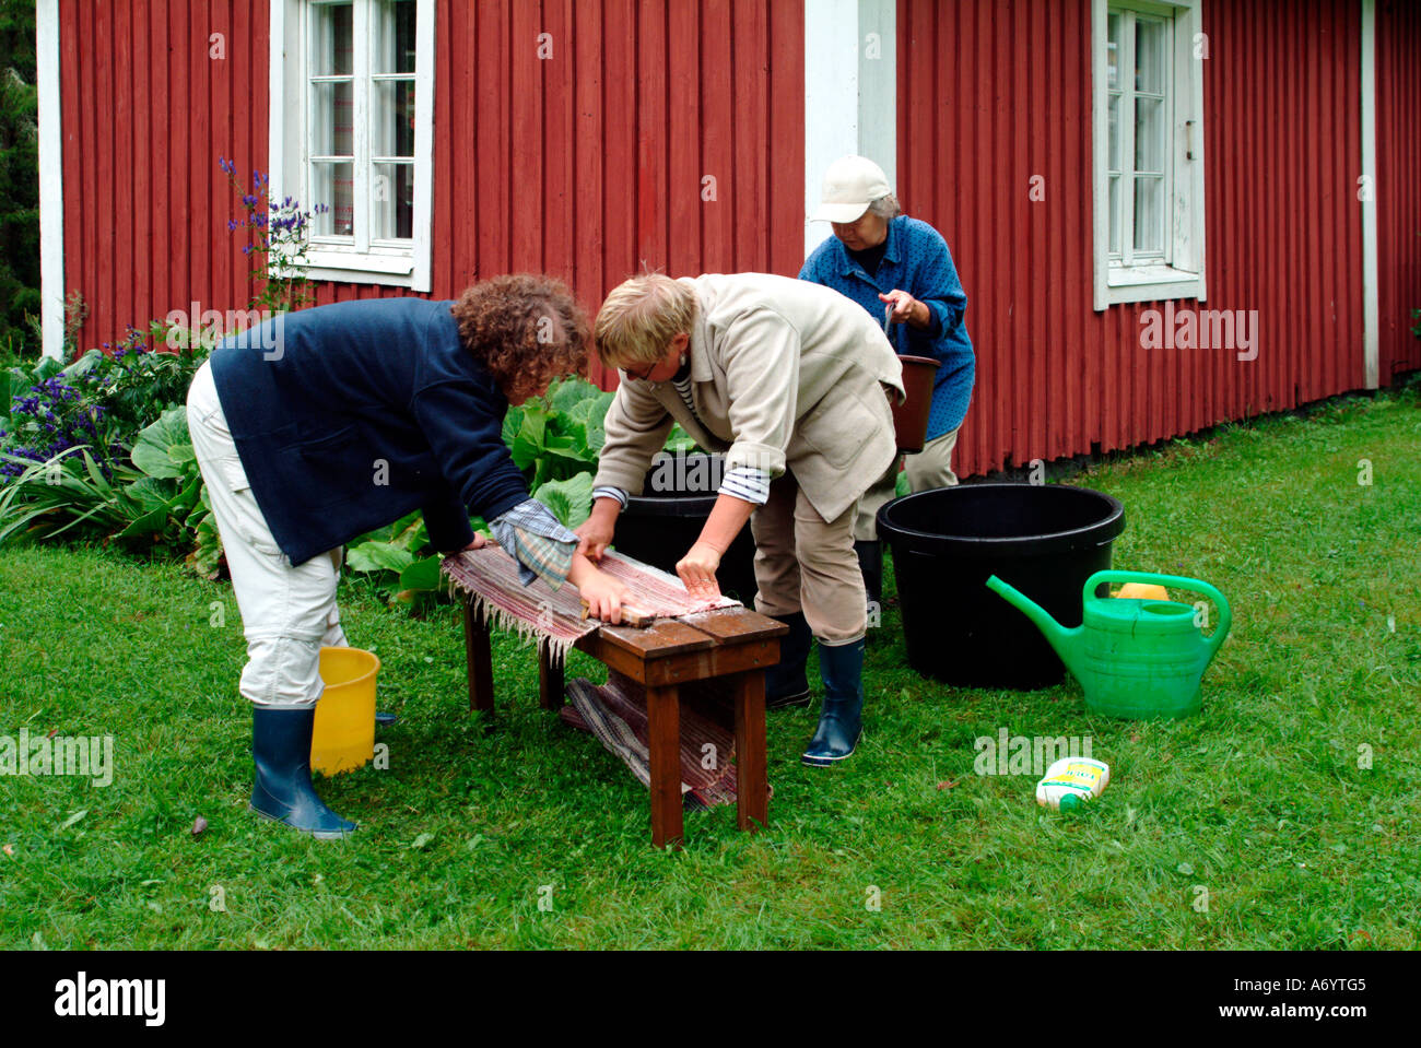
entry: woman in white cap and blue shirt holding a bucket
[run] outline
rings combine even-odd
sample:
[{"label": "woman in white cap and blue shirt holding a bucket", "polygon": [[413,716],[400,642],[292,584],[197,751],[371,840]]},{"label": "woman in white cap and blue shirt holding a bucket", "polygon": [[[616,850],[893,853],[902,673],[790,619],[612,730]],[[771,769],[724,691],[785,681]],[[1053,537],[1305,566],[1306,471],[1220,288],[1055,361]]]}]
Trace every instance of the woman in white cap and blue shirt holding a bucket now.
[{"label": "woman in white cap and blue shirt holding a bucket", "polygon": [[[914,491],[956,484],[952,449],[972,399],[976,358],[968,337],[968,297],[946,241],[928,223],[901,213],[882,168],[864,156],[844,156],[828,166],[811,220],[831,223],[834,236],[804,261],[800,280],[848,295],[875,318],[891,311],[894,349],[938,359],[928,442],[922,452],[907,456],[904,469]],[[897,480],[894,463],[858,503],[854,548],[870,605],[882,594],[875,518],[894,497]]]}]

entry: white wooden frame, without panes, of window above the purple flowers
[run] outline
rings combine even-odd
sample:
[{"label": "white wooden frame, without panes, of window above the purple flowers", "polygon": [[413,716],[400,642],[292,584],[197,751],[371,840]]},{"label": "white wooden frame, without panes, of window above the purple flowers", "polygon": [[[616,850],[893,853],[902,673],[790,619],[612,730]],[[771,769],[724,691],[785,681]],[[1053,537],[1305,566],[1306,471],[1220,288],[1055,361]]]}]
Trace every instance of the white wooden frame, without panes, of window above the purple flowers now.
[{"label": "white wooden frame, without panes, of window above the purple flowers", "polygon": [[[306,277],[352,284],[385,284],[412,291],[431,290],[429,250],[433,217],[433,124],[435,124],[435,0],[416,0],[415,9],[415,199],[412,239],[398,241],[369,240],[369,114],[365,88],[371,34],[355,0],[355,163],[354,200],[357,239],[348,244],[317,243],[306,253]],[[271,0],[271,112],[270,159],[271,196],[294,196],[303,207],[311,200],[307,152],[307,26],[314,0]],[[364,160],[364,162],[362,162]],[[365,222],[361,222],[364,212]],[[333,237],[333,240],[341,240]]]}]

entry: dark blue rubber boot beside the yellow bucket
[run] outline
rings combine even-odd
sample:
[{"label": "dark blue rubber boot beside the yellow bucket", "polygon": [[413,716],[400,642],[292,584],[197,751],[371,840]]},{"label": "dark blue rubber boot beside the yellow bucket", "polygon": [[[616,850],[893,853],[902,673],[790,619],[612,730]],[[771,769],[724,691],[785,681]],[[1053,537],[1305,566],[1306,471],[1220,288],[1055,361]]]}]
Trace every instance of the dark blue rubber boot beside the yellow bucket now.
[{"label": "dark blue rubber boot beside the yellow bucket", "polygon": [[252,707],[252,757],[257,765],[252,811],[321,841],[355,832],[311,787],[311,728],[315,707]]}]

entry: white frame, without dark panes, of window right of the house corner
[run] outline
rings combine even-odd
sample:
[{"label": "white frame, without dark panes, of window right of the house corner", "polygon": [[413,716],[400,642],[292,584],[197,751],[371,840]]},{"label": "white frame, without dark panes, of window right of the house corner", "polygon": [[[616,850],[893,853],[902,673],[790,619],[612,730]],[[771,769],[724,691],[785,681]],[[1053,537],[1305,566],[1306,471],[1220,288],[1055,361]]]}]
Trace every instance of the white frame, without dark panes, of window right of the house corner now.
[{"label": "white frame, without dark panes, of window right of the house corner", "polygon": [[[1094,307],[1107,310],[1117,302],[1147,302],[1168,298],[1206,297],[1204,250],[1204,68],[1195,58],[1195,37],[1202,30],[1202,0],[1091,0],[1091,200],[1094,212]],[[1165,170],[1165,261],[1124,266],[1110,257],[1110,82],[1107,40],[1110,11],[1137,11],[1172,21],[1167,41],[1171,112],[1168,114],[1168,158]],[[1167,30],[1168,31],[1168,30]],[[1201,40],[1206,47],[1208,41]],[[1133,75],[1121,64],[1120,82]],[[1131,81],[1133,82],[1133,81]],[[1120,125],[1121,163],[1125,146],[1134,141],[1134,125],[1125,133]],[[1133,156],[1133,152],[1131,152]],[[1121,206],[1125,182],[1120,189]],[[1121,249],[1128,246],[1121,241]]]}]

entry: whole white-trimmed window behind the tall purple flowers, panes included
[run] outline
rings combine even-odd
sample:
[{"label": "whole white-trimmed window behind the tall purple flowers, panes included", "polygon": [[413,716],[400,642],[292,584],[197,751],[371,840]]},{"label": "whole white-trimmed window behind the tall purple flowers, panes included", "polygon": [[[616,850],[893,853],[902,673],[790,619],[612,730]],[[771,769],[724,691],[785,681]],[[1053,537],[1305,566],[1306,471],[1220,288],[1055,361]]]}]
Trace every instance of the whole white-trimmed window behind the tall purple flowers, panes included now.
[{"label": "whole white-trimmed window behind the tall purple flowers, panes included", "polygon": [[273,0],[271,189],[313,280],[429,290],[433,0]]}]

